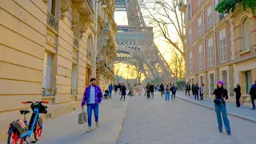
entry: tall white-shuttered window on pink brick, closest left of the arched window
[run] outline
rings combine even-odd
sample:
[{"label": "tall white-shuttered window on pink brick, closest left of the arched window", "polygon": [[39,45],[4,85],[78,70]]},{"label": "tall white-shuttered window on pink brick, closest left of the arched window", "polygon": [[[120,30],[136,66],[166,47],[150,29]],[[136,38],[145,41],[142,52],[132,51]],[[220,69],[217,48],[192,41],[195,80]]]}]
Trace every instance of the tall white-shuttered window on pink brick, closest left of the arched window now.
[{"label": "tall white-shuttered window on pink brick, closest left of the arched window", "polygon": [[219,32],[219,49],[221,56],[221,63],[226,62],[226,29]]}]

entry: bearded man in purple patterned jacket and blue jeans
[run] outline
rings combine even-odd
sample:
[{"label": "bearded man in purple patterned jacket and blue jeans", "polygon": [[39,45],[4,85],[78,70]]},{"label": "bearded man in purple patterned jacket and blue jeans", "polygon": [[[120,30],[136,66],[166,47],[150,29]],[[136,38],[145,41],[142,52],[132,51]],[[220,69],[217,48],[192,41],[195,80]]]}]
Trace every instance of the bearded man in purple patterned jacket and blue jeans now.
[{"label": "bearded man in purple patterned jacket and blue jeans", "polygon": [[91,131],[91,114],[94,110],[94,116],[96,121],[96,127],[98,127],[98,104],[102,102],[102,90],[96,85],[96,79],[90,79],[90,86],[86,87],[85,93],[82,98],[82,109],[83,106],[87,106],[88,115],[88,132]]}]

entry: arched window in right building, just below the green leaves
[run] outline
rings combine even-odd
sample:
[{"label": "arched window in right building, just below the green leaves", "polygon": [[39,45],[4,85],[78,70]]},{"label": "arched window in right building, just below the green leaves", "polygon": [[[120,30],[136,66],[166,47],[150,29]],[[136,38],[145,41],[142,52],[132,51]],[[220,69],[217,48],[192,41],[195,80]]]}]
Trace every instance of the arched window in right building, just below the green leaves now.
[{"label": "arched window in right building, just below the green leaves", "polygon": [[250,26],[248,18],[242,24],[242,51],[246,50],[250,50]]}]

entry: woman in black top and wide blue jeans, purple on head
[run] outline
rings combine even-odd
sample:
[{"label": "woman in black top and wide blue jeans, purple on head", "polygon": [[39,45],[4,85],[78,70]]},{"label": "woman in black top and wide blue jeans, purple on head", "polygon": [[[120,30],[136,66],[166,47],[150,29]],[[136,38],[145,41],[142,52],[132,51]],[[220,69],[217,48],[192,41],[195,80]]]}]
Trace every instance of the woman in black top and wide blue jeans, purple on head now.
[{"label": "woman in black top and wide blue jeans, purple on head", "polygon": [[[227,118],[226,114],[226,99],[228,99],[227,90],[223,87],[223,82],[218,80],[217,89],[214,90],[215,98],[219,103],[214,103],[215,113],[217,115],[218,120],[218,130],[222,133],[222,118],[224,125],[226,127],[226,133],[230,135],[230,121]],[[214,100],[215,101],[215,100]],[[222,113],[222,114],[221,114]]]}]

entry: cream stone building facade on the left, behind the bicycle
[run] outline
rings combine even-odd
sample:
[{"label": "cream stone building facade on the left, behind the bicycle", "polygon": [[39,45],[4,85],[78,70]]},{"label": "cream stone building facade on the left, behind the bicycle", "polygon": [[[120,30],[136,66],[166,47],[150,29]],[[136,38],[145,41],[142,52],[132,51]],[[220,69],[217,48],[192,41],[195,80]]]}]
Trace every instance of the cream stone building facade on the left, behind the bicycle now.
[{"label": "cream stone building facade on the left, behind the bicycle", "polygon": [[[90,78],[100,86],[113,81],[114,0],[105,2],[106,8],[96,0],[0,3],[0,142],[6,141],[6,126],[22,118],[19,110],[30,109],[21,102],[49,101],[49,113],[42,115],[47,122],[80,107]],[[108,53],[99,50],[105,22]],[[109,64],[106,76],[99,72],[98,54]]]}]

